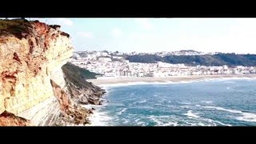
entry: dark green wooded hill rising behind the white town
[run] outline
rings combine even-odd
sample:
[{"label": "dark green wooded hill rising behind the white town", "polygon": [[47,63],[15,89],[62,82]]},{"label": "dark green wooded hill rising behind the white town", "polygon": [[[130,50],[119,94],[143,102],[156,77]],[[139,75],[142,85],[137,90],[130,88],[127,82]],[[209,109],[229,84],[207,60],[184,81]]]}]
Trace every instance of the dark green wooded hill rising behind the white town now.
[{"label": "dark green wooded hill rising behind the white town", "polygon": [[156,54],[143,54],[131,55],[125,58],[130,62],[184,63],[188,66],[256,66],[256,54],[168,55],[165,57],[160,57]]}]

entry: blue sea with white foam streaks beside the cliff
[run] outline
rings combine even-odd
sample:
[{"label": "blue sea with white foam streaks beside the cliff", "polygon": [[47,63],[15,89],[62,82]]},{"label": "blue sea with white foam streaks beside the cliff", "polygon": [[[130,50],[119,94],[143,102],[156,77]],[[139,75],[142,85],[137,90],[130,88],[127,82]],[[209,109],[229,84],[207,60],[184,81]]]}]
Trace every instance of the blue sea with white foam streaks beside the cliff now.
[{"label": "blue sea with white foam streaks beside the cliff", "polygon": [[256,126],[253,78],[105,88],[104,126]]}]

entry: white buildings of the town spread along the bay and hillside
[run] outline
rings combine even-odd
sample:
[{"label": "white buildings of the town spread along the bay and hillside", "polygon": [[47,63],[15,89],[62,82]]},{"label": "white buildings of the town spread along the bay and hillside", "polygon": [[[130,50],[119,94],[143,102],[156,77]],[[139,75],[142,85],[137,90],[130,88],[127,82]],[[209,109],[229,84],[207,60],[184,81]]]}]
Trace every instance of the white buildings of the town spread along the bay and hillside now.
[{"label": "white buildings of the town spread along the bay and hillside", "polygon": [[[118,51],[79,51],[75,52],[70,62],[76,66],[90,70],[98,75],[97,78],[122,77],[171,77],[182,75],[214,75],[214,74],[255,74],[255,66],[187,66],[183,63],[171,64],[166,62],[142,63],[129,62]],[[195,55],[202,54],[194,50],[181,50],[175,52],[156,53],[160,55]]]}]

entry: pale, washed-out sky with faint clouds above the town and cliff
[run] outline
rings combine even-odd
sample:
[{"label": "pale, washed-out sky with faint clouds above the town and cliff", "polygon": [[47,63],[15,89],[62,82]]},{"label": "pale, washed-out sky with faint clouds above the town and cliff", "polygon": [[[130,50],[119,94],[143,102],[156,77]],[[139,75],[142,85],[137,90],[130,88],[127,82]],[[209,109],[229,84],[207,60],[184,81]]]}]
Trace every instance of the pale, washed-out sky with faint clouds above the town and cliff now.
[{"label": "pale, washed-out sky with faint clouds above the town and cliff", "polygon": [[[75,50],[198,50],[256,54],[256,18],[38,18],[69,33]],[[31,18],[32,20],[32,18]]]}]

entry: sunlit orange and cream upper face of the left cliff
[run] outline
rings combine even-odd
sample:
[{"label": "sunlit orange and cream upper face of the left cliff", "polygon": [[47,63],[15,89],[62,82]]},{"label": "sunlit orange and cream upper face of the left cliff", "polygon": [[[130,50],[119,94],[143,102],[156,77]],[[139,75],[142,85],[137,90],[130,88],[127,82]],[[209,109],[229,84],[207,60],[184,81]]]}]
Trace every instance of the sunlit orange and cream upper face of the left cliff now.
[{"label": "sunlit orange and cream upper face of the left cliff", "polygon": [[0,32],[0,114],[19,114],[54,97],[50,79],[65,85],[56,73],[73,54],[69,35],[59,26],[24,23],[26,30],[13,33],[17,24]]}]

